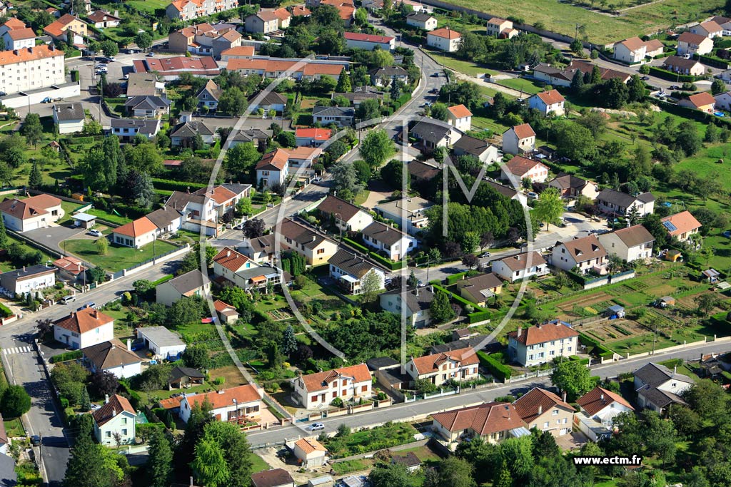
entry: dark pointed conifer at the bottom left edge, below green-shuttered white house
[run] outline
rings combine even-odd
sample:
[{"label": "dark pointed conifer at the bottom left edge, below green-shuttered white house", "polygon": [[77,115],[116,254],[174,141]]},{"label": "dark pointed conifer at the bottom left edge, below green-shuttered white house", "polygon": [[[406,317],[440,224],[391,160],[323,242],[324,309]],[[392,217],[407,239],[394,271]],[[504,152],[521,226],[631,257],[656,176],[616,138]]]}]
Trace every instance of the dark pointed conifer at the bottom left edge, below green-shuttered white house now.
[{"label": "dark pointed conifer at the bottom left edge, below green-shuttered white house", "polygon": [[91,423],[84,421],[71,449],[64,487],[113,487],[102,445],[91,440]]}]

